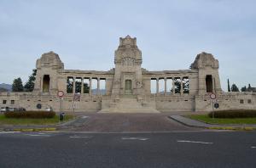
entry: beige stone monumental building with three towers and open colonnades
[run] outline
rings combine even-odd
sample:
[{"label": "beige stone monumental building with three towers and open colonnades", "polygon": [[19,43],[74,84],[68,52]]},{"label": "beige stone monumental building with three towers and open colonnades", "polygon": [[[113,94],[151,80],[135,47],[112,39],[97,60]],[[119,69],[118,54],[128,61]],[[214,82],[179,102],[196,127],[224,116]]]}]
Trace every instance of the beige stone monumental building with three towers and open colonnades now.
[{"label": "beige stone monumental building with three towers and open colonnades", "polygon": [[[214,93],[219,109],[256,109],[256,93],[222,91],[218,60],[211,53],[198,54],[189,70],[149,71],[142,63],[137,38],[131,36],[119,38],[114,68],[108,71],[65,70],[58,54],[44,53],[37,60],[34,90],[3,92],[0,106],[66,112],[204,112],[212,110],[209,95]],[[62,99],[59,91],[64,92]]]}]

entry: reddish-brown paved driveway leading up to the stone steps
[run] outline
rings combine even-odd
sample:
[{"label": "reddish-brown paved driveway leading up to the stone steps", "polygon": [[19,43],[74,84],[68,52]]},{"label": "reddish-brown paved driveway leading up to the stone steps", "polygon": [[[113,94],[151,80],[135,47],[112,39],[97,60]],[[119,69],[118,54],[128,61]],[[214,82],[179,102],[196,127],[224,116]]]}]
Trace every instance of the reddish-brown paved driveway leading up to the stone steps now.
[{"label": "reddish-brown paved driveway leading up to the stone steps", "polygon": [[199,130],[169,119],[168,114],[84,114],[81,126],[65,130],[75,132],[168,132]]}]

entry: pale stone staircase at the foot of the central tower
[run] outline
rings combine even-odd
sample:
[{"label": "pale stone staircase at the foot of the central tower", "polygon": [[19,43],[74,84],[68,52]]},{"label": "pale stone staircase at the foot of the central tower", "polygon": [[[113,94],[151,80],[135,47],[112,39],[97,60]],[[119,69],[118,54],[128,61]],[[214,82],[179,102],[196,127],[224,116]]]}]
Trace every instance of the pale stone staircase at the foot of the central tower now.
[{"label": "pale stone staircase at the foot of the central tower", "polygon": [[102,100],[102,110],[99,113],[160,113],[160,111],[155,109],[155,102],[138,101],[137,98],[125,95],[115,101]]}]

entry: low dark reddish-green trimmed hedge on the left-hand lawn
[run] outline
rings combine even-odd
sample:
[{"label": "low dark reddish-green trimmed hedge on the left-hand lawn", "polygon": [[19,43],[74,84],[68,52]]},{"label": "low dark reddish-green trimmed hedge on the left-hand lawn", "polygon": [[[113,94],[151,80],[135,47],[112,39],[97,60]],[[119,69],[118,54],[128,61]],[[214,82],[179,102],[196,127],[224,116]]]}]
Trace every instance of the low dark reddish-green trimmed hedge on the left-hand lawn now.
[{"label": "low dark reddish-green trimmed hedge on the left-hand lawn", "polygon": [[54,118],[55,112],[53,111],[9,111],[4,113],[6,118],[31,118],[31,119],[44,119]]}]

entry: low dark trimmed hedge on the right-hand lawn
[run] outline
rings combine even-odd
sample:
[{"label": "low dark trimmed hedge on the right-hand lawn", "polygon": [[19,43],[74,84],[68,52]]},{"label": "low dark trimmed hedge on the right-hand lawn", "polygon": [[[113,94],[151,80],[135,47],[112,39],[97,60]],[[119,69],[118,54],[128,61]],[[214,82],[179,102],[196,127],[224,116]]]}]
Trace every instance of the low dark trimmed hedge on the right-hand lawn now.
[{"label": "low dark trimmed hedge on the right-hand lawn", "polygon": [[[208,114],[212,118],[212,112]],[[230,109],[214,111],[215,118],[252,118],[256,117],[256,109]]]}]

